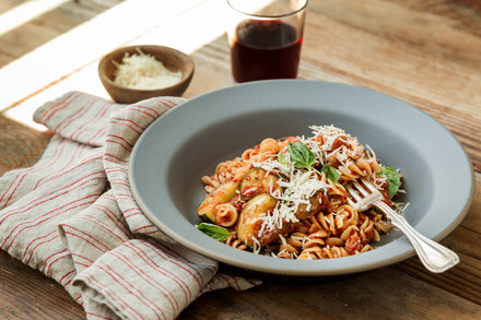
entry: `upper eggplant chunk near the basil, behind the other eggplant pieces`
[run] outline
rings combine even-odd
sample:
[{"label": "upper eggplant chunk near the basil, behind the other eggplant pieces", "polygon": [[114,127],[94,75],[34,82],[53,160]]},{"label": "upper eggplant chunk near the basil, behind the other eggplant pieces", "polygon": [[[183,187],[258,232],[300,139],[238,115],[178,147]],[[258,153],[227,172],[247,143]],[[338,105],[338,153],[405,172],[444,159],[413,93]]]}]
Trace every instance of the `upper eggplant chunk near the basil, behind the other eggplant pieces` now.
[{"label": "upper eggplant chunk near the basil, behind the other eggplant pieces", "polygon": [[254,168],[247,171],[241,182],[241,198],[247,201],[257,194],[270,193],[277,189],[279,189],[278,177],[267,175],[262,168]]}]

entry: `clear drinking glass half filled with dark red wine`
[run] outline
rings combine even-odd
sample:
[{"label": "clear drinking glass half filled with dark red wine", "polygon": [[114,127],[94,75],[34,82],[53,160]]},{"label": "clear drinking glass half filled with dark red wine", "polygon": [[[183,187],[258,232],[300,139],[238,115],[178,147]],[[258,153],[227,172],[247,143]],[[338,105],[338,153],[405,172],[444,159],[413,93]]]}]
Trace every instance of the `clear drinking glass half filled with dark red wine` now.
[{"label": "clear drinking glass half filled with dark red wine", "polygon": [[227,0],[237,82],[297,78],[307,0]]}]

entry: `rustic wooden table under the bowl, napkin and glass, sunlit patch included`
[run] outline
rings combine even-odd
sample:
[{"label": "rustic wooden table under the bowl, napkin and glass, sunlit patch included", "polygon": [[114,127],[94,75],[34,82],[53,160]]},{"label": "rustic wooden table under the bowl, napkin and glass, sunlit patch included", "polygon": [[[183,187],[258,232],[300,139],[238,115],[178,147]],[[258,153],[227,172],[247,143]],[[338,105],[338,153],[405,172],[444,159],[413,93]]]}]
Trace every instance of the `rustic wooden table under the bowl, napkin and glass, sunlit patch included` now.
[{"label": "rustic wooden table under the bowl, napkin and glass, sunlit patch included", "polygon": [[[44,2],[57,7],[32,16],[28,10],[7,26],[15,9],[35,1],[0,2],[0,174],[33,165],[50,140],[30,127],[35,107],[70,90],[107,97],[96,63],[114,47],[160,44],[190,54],[197,69],[185,97],[234,84],[225,21],[209,15],[219,1]],[[472,161],[477,191],[466,218],[442,242],[461,262],[442,274],[412,258],[352,277],[266,280],[243,293],[206,294],[179,318],[481,319],[480,2],[312,0],[300,78],[386,93],[456,135]],[[59,284],[0,250],[0,318],[85,315]]]}]

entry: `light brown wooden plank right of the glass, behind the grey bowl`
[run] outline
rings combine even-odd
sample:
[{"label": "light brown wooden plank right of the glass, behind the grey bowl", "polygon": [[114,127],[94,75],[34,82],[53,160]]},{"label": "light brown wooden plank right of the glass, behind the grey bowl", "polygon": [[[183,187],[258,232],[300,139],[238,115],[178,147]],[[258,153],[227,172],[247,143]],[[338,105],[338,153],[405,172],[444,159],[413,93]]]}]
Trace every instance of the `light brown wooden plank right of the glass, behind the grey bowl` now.
[{"label": "light brown wooden plank right of the glass, behind the grey bowl", "polygon": [[[445,54],[441,55],[437,47],[425,47],[422,36],[409,42],[403,37],[417,29],[417,19],[430,21],[421,34],[443,33],[450,21],[396,3],[368,2],[356,10],[349,1],[310,3],[307,29],[324,32],[306,32],[303,78],[365,86],[420,107],[454,132],[481,170],[481,109],[477,107],[481,105],[481,63],[473,60],[481,55],[470,56],[458,47],[459,38],[468,37],[481,50],[481,37],[453,28],[443,34],[439,46]],[[385,12],[396,12],[399,22],[391,23]]]}]

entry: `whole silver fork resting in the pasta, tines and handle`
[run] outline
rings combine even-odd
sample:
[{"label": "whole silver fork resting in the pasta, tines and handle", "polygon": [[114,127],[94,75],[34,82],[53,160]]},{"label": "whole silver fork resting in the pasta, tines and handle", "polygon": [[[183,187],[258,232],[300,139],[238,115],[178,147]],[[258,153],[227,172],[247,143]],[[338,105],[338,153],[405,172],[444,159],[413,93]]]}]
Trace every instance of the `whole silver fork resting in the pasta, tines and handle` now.
[{"label": "whole silver fork resting in the pasta, tines and handle", "polygon": [[365,211],[371,206],[382,210],[392,225],[408,237],[421,262],[429,271],[444,272],[459,262],[459,257],[454,251],[418,233],[402,215],[390,209],[383,201],[383,194],[373,183],[366,179],[361,179],[361,181],[365,187],[356,180],[352,180],[345,186],[350,194],[348,201],[351,206],[359,211]]}]

